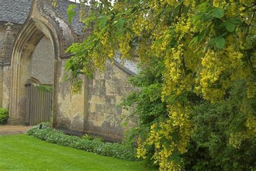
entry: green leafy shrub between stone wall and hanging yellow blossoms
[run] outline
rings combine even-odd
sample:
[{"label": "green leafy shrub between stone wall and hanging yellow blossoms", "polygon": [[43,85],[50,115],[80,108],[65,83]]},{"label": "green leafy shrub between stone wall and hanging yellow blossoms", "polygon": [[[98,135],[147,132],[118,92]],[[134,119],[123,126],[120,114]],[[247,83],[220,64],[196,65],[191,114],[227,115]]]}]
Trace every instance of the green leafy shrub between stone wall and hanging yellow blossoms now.
[{"label": "green leafy shrub between stone wall and hanging yellow blossoms", "polygon": [[[130,119],[134,121],[136,118],[137,127],[133,127],[126,132],[124,142],[134,143],[137,142],[138,136],[146,139],[150,132],[150,126],[156,122],[166,119],[167,108],[166,104],[161,101],[161,71],[163,65],[158,60],[152,60],[150,65],[144,67],[137,76],[130,78],[130,83],[138,88],[127,95],[123,99],[122,106],[130,109],[129,117],[123,117],[126,122]],[[148,147],[148,155],[153,156],[154,148]],[[152,158],[149,157],[145,161],[153,165]]]}]

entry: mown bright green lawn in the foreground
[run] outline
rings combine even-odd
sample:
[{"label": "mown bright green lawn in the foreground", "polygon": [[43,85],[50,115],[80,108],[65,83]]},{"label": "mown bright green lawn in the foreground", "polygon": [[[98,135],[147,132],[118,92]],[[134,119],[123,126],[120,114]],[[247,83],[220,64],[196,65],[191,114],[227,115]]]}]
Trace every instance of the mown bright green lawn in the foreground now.
[{"label": "mown bright green lawn in the foreground", "polygon": [[31,138],[0,136],[0,170],[154,170],[140,162],[95,155]]}]

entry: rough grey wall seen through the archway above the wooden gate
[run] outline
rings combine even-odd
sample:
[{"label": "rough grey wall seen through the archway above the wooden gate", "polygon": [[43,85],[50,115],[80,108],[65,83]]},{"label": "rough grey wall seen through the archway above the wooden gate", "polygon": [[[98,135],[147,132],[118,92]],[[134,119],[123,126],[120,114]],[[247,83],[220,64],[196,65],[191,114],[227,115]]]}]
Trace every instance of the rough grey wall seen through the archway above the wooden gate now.
[{"label": "rough grey wall seen through the archway above the wooden gate", "polygon": [[51,40],[44,36],[32,54],[31,76],[41,84],[53,84],[54,52]]}]

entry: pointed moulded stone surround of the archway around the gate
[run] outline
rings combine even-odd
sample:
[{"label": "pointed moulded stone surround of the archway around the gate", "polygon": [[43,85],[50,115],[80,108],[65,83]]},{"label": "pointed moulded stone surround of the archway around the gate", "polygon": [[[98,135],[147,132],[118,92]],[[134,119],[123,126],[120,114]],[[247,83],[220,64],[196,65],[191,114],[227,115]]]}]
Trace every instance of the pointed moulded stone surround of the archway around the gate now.
[{"label": "pointed moulded stone surround of the archway around the gate", "polygon": [[[59,18],[50,0],[35,0],[26,22],[19,31],[11,57],[10,125],[24,125],[26,118],[26,81],[31,79],[31,56],[44,37],[51,40],[54,51],[53,125],[58,113],[58,87],[62,76],[62,60],[65,49],[74,42],[75,36],[68,23]],[[42,64],[43,65],[43,64]]]}]

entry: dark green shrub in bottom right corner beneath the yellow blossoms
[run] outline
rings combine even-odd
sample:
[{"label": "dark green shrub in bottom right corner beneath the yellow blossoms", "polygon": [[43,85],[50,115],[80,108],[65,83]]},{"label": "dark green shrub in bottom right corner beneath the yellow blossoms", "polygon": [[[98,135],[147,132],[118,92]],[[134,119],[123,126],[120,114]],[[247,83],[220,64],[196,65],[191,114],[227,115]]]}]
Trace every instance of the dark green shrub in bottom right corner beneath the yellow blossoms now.
[{"label": "dark green shrub in bottom right corner beneath the yellow blossoms", "polygon": [[[256,102],[250,103],[246,98],[246,84],[238,81],[227,93],[224,101],[212,104],[203,101],[194,106],[192,121],[196,129],[192,134],[191,143],[195,145],[194,150],[203,153],[191,156],[198,160],[194,167],[203,166],[205,170],[251,170],[256,169],[256,139],[244,140],[240,148],[234,148],[228,143],[231,133],[240,132],[244,127],[244,113],[241,107],[254,110]],[[197,153],[198,153],[197,152]],[[188,152],[190,153],[190,152]],[[201,164],[200,164],[201,163]],[[202,170],[202,169],[199,169]]]}]

